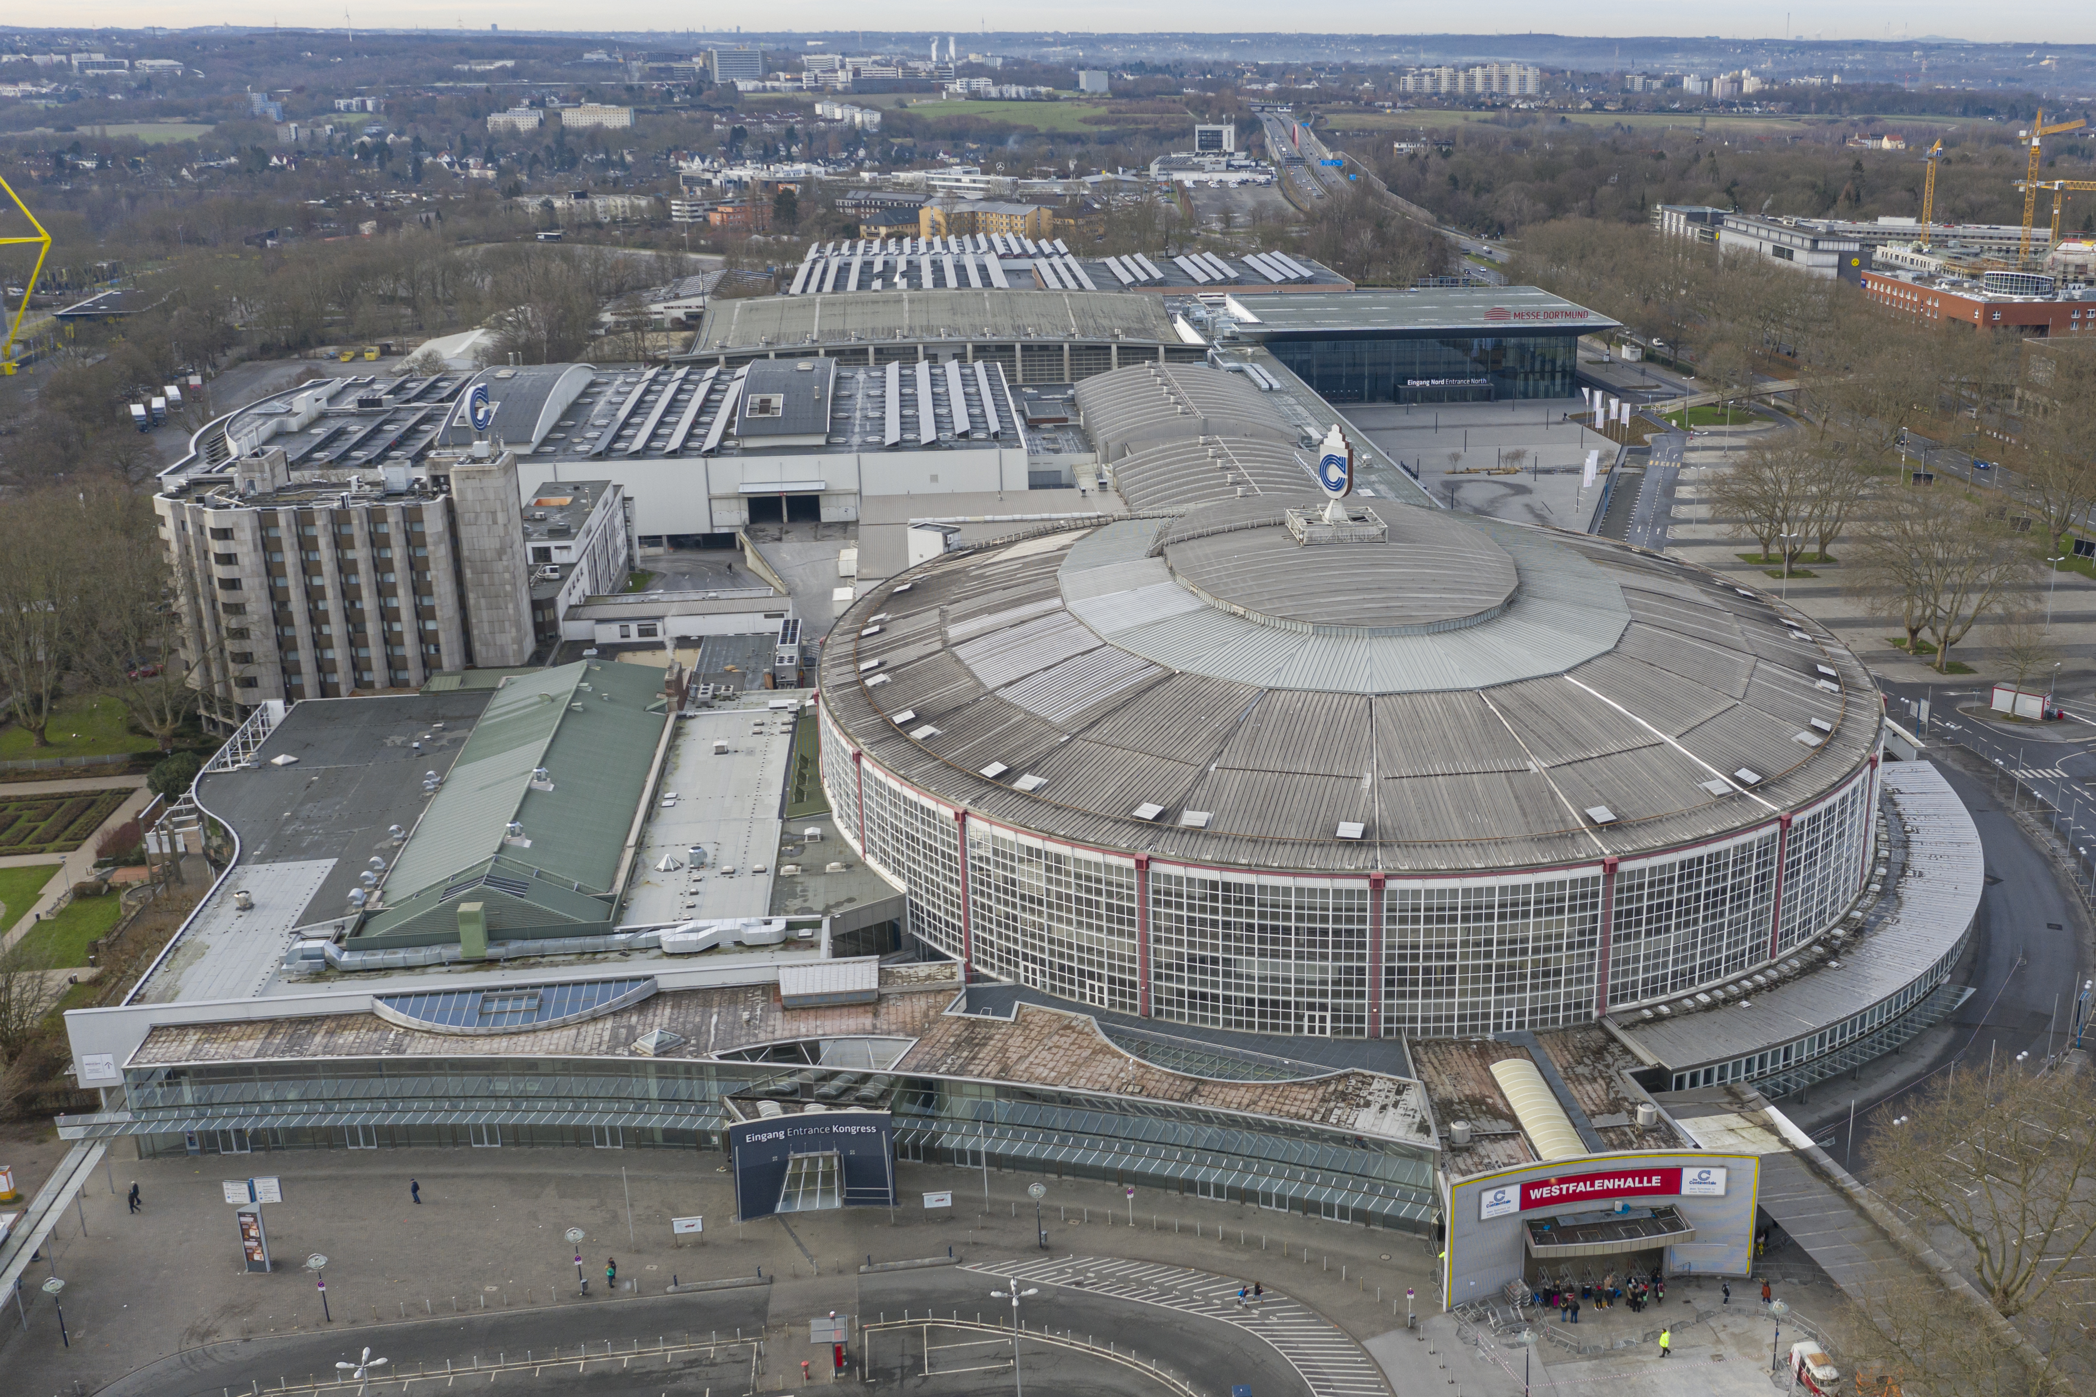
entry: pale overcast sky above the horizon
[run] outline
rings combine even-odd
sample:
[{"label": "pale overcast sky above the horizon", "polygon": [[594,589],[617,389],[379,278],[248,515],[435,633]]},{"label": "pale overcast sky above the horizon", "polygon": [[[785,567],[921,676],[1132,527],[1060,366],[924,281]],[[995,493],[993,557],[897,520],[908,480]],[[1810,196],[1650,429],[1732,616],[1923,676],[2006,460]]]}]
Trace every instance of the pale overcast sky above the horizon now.
[{"label": "pale overcast sky above the horizon", "polygon": [[[371,4],[369,0],[348,0],[348,15],[352,23],[375,25],[375,27],[470,27],[482,34],[490,23],[499,23],[505,29],[564,29],[574,25],[583,13],[568,0],[555,4],[553,0],[453,0],[451,4],[409,4],[402,0],[381,0]],[[606,23],[618,23],[623,27],[643,29],[648,25],[658,25],[662,29],[681,29],[692,23],[732,23],[732,17],[740,6],[715,8],[706,6],[700,10],[690,4],[690,0],[625,0],[616,6],[597,8],[591,17]],[[340,25],[342,23],[344,0],[319,0],[319,4],[287,6],[281,0],[210,0],[208,4],[195,4],[193,0],[174,0],[174,4],[130,4],[130,2],[96,2],[88,0],[78,8],[67,8],[63,15],[65,23],[78,25],[122,25],[122,27],[143,27],[143,25],[210,25],[210,23],[241,23],[241,25]],[[899,31],[926,31],[941,29],[966,34],[966,29],[952,29],[956,23],[964,23],[964,15],[977,21],[977,27],[989,19],[989,6],[975,6],[975,15],[966,15],[966,6],[954,4],[933,4],[931,0],[885,0],[882,4],[843,4],[840,0],[771,0],[763,6],[752,6],[750,10],[740,10],[759,19],[767,29],[845,29],[878,19],[885,25],[893,25]],[[1281,17],[1279,8],[1270,0],[1209,0],[1207,4],[1109,4],[1105,0],[1073,0],[1056,6],[1042,6],[1031,10],[1044,23],[1056,23],[1069,29],[1100,29],[1100,31],[1144,31],[1144,29],[1203,29],[1203,31],[1241,31],[1258,34],[1272,31],[1274,21]],[[1346,31],[1360,29],[1369,34],[1388,34],[1392,25],[1411,21],[1417,25],[1421,19],[1429,19],[1429,10],[1396,10],[1390,4],[1369,4],[1367,0],[1335,0],[1331,4],[1318,6],[1314,13],[1306,13],[1308,21],[1302,27],[1314,27],[1316,31]],[[1895,4],[1893,0],[1851,0],[1849,4],[1838,4],[1832,10],[1811,4],[1796,4],[1794,0],[1784,0],[1782,8],[1756,8],[1740,13],[1731,6],[1719,6],[1704,10],[1702,6],[1685,6],[1679,0],[1660,4],[1660,0],[1589,0],[1589,4],[1562,4],[1553,0],[1543,4],[1543,0],[1501,0],[1490,6],[1490,10],[1476,10],[1478,21],[1490,19],[1492,31],[1501,34],[1566,34],[1576,27],[1578,34],[1587,36],[1666,36],[1666,34],[1689,34],[1706,36],[1719,34],[1725,38],[1784,38],[1786,23],[1794,25],[1790,34],[1794,38],[1828,38],[1828,40],[1886,40],[1886,38],[1920,38],[1920,36],[1943,36],[1943,38],[1964,38],[1981,42],[2010,42],[2016,34],[2042,34],[2044,42],[2052,44],[2090,44],[2096,42],[2096,8],[2088,4],[2067,4],[2065,0],[2050,0],[2035,6],[2018,6],[2016,15],[2002,15],[1989,6],[1977,6],[1966,0],[1960,4],[1949,4],[1947,0],[1912,0]],[[15,15],[21,23],[27,15]],[[61,19],[57,13],[48,19]],[[998,25],[991,27],[1012,27],[1023,19],[1019,10],[1002,10]],[[1740,27],[1750,23],[1752,27]],[[755,27],[755,25],[752,25]],[[2021,42],[2021,40],[2014,40]],[[2037,42],[2037,40],[2033,40]],[[1373,44],[1369,44],[1373,50]]]}]

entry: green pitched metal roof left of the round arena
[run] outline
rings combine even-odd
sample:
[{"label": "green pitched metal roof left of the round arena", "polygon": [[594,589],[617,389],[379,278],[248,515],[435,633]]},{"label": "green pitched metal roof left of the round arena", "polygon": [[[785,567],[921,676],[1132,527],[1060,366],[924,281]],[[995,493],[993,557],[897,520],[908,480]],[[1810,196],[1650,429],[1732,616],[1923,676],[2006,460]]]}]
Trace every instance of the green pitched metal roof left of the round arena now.
[{"label": "green pitched metal roof left of the round arena", "polygon": [[[568,899],[614,892],[669,720],[656,666],[585,660],[511,674],[394,861],[388,911],[358,928],[358,940],[407,930],[451,888],[478,884],[495,859]],[[539,769],[543,783],[532,779]],[[516,838],[511,821],[522,825]]]}]

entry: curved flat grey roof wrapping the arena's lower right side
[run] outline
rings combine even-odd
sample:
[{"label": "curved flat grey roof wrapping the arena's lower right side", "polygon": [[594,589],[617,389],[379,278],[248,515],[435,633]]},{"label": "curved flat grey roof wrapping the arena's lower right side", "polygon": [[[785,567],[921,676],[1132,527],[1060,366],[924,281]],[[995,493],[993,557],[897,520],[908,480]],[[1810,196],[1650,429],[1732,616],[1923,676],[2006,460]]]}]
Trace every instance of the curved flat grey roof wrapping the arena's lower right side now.
[{"label": "curved flat grey roof wrapping the arena's lower right side", "polygon": [[1683,1070],[1729,1062],[1838,1024],[1888,999],[1935,966],[1972,926],[1985,886],[1979,829],[1935,762],[1884,762],[1878,769],[1893,798],[1895,823],[1907,834],[1903,875],[1886,888],[1863,924],[1842,936],[1824,963],[1796,980],[1756,989],[1731,1003],[1671,1018],[1610,1018],[1641,1054]]}]

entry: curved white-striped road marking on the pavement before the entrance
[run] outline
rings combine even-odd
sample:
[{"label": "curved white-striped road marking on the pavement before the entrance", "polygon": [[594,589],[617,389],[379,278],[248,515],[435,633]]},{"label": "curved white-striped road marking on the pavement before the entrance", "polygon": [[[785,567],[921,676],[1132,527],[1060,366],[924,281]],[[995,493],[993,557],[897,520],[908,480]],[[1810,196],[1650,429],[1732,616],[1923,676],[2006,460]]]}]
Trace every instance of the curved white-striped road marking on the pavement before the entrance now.
[{"label": "curved white-striped road marking on the pavement before the entrance", "polygon": [[1241,1280],[1115,1257],[985,1261],[966,1269],[1222,1320],[1272,1345],[1302,1374],[1312,1397],[1390,1397],[1381,1368],[1360,1345],[1331,1320],[1279,1290],[1268,1290],[1256,1305],[1239,1305]]}]

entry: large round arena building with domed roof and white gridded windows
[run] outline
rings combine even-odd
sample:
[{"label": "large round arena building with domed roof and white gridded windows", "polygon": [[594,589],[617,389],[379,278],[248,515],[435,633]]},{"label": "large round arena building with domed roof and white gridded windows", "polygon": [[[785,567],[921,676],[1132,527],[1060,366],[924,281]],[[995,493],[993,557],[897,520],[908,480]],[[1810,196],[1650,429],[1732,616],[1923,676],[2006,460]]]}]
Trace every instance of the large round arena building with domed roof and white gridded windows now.
[{"label": "large round arena building with domed roof and white gridded windows", "polygon": [[1446,1037],[1723,999],[1847,913],[1882,714],[1838,641],[1603,538],[1320,503],[1038,532],[849,609],[822,777],[912,934],[1123,1014]]}]

